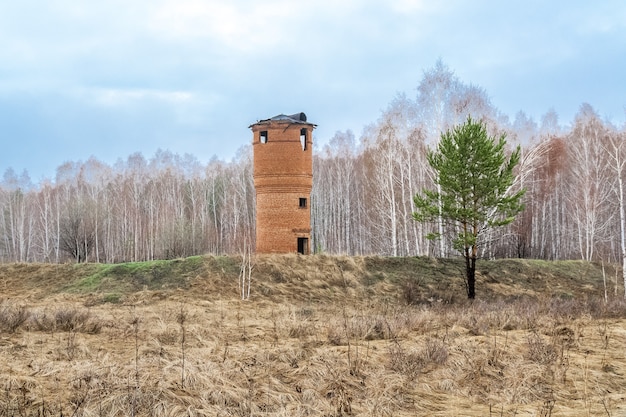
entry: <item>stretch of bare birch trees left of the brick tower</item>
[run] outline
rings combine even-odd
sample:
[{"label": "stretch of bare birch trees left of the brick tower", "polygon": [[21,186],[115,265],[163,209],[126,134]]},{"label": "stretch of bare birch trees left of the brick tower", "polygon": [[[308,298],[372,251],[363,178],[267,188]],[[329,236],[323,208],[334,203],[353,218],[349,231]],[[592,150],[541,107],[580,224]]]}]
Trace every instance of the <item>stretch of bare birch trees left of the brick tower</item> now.
[{"label": "stretch of bare birch trees left of the brick tower", "polygon": [[237,253],[254,230],[251,154],[201,165],[190,155],[133,154],[111,167],[67,162],[27,190],[5,173],[0,256],[13,262],[128,262]]}]

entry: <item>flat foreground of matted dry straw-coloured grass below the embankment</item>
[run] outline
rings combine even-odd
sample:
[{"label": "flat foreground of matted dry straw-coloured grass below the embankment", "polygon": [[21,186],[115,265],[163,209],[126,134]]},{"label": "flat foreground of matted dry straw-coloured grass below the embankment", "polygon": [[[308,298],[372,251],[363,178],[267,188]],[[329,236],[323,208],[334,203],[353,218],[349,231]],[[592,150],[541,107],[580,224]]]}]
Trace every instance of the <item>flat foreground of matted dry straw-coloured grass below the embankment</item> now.
[{"label": "flat foreground of matted dry straw-coloured grass below the embankment", "polygon": [[81,303],[3,304],[0,416],[626,411],[617,301]]}]

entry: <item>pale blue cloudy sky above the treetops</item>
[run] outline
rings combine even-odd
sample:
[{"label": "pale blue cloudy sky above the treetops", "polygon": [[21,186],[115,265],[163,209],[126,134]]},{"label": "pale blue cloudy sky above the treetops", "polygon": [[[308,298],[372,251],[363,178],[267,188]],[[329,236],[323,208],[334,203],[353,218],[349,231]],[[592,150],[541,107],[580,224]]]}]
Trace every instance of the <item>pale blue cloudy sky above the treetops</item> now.
[{"label": "pale blue cloudy sky above the treetops", "polygon": [[511,119],[626,110],[622,0],[0,2],[0,175],[161,148],[230,160],[304,111],[358,136],[441,59]]}]

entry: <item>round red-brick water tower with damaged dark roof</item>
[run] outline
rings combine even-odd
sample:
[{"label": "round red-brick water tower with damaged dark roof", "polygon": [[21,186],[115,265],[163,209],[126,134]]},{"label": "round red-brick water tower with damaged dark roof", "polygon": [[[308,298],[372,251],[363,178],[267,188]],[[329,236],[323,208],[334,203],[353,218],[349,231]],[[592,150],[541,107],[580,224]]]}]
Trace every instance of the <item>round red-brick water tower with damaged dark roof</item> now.
[{"label": "round red-brick water tower with damaged dark roof", "polygon": [[304,113],[250,126],[256,189],[256,252],[310,252],[313,129]]}]

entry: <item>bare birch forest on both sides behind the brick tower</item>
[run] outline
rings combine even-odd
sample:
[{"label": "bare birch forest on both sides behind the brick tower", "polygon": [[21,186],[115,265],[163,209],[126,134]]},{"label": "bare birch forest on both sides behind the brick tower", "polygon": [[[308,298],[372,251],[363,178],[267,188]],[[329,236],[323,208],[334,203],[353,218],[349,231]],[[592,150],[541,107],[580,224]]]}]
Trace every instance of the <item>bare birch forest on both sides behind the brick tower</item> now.
[{"label": "bare birch forest on both sides behind the brick tower", "polygon": [[[440,62],[359,136],[348,130],[314,139],[312,249],[456,255],[445,240],[426,239],[441,226],[413,221],[412,201],[433,185],[426,150],[468,115],[483,120],[490,134],[506,133],[511,147],[522,146],[515,187],[527,190],[526,209],[488,236],[482,257],[626,260],[626,127],[584,103],[568,125],[554,111],[537,121],[521,111],[509,118],[483,89]],[[0,261],[244,253],[255,235],[251,138],[229,162],[205,164],[169,151],[133,154],[113,165],[91,158],[67,162],[37,184],[9,168],[0,182]]]}]

